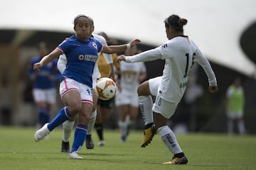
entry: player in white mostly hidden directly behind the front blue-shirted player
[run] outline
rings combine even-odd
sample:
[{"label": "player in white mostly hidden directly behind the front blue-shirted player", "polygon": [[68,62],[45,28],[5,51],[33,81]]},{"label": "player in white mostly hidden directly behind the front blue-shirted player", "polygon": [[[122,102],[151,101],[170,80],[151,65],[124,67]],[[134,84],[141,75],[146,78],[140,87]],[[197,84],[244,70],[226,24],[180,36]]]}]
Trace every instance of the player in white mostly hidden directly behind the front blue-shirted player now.
[{"label": "player in white mostly hidden directly behind the front blue-shirted player", "polygon": [[[90,17],[88,17],[90,18]],[[102,45],[107,45],[107,41],[105,40],[104,37],[102,37],[101,35],[97,35],[92,33],[95,29],[94,26],[94,22],[92,20],[92,18],[90,18],[90,24],[91,24],[91,37],[95,38],[96,40],[100,41],[102,43]],[[98,53],[98,55],[100,55],[100,52]],[[105,57],[105,60],[108,64],[108,67],[110,68],[110,72],[109,72],[109,77],[113,79],[114,77],[114,65],[113,65],[113,60],[112,60],[112,56],[109,54],[105,54],[103,53],[103,56]],[[57,63],[57,67],[60,71],[61,74],[63,74],[63,72],[66,69],[66,65],[67,65],[67,57],[65,56],[65,54],[60,55],[59,59],[58,59],[58,63]],[[98,69],[98,65],[97,62],[95,64],[95,68],[93,70],[93,74],[92,74],[92,87],[95,86],[97,79],[100,79],[101,75],[100,75],[100,71]],[[94,143],[92,141],[92,130],[94,128],[95,125],[95,120],[96,120],[96,116],[97,116],[97,95],[93,95],[93,108],[92,108],[92,114],[90,115],[90,120],[88,123],[88,129],[87,129],[87,135],[86,135],[86,148],[87,149],[93,149],[94,148]],[[66,120],[63,123],[63,141],[61,143],[61,152],[70,152],[70,144],[69,144],[69,140],[70,140],[70,135],[71,135],[71,131],[73,129],[73,126],[75,124],[75,118],[71,118],[69,120]]]}]

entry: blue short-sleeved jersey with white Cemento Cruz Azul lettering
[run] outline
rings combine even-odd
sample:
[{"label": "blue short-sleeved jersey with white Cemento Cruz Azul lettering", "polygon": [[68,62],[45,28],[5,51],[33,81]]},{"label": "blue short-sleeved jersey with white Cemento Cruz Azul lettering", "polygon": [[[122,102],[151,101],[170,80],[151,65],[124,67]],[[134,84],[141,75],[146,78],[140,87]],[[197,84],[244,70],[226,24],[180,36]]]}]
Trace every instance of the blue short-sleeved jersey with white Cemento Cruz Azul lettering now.
[{"label": "blue short-sleeved jersey with white Cemento Cruz Azul lettering", "polygon": [[63,72],[63,79],[70,78],[92,87],[92,73],[97,62],[97,53],[102,50],[102,43],[95,38],[78,40],[72,35],[63,41],[58,49],[67,57],[67,67]]}]

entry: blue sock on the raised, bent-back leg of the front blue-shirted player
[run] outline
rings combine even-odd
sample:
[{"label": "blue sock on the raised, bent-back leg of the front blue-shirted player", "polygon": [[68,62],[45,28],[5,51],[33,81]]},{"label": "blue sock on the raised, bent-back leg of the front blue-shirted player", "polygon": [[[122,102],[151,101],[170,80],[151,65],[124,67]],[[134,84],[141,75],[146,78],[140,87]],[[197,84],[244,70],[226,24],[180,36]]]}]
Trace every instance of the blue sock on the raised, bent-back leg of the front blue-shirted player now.
[{"label": "blue sock on the raised, bent-back leg of the front blue-shirted player", "polygon": [[65,106],[48,124],[48,130],[52,131],[54,128],[56,128],[58,125],[61,125],[63,122],[65,122],[65,120],[68,120],[69,118],[71,118],[71,115],[68,111],[68,106]]}]

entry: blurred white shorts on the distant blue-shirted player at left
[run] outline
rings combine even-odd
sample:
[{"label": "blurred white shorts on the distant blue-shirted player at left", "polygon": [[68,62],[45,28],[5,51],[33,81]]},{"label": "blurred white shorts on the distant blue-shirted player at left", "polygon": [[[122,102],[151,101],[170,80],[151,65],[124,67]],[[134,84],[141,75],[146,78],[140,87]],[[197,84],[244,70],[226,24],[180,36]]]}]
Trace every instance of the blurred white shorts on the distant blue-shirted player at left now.
[{"label": "blurred white shorts on the distant blue-shirted player at left", "polygon": [[44,101],[54,104],[56,101],[56,89],[33,89],[33,98],[36,103]]}]

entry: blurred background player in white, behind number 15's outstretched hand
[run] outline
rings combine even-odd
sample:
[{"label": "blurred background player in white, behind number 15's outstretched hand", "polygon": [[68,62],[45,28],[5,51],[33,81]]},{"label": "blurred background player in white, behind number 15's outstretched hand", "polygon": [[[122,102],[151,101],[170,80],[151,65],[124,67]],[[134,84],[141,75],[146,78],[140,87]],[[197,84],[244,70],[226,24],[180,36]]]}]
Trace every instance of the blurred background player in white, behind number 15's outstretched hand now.
[{"label": "blurred background player in white, behind number 15's outstretched hand", "polygon": [[[136,55],[140,51],[137,45],[126,50],[124,55]],[[117,81],[116,106],[119,108],[120,142],[126,142],[129,128],[134,128],[139,110],[137,88],[146,79],[146,67],[144,62],[120,63],[121,79]]]}]

